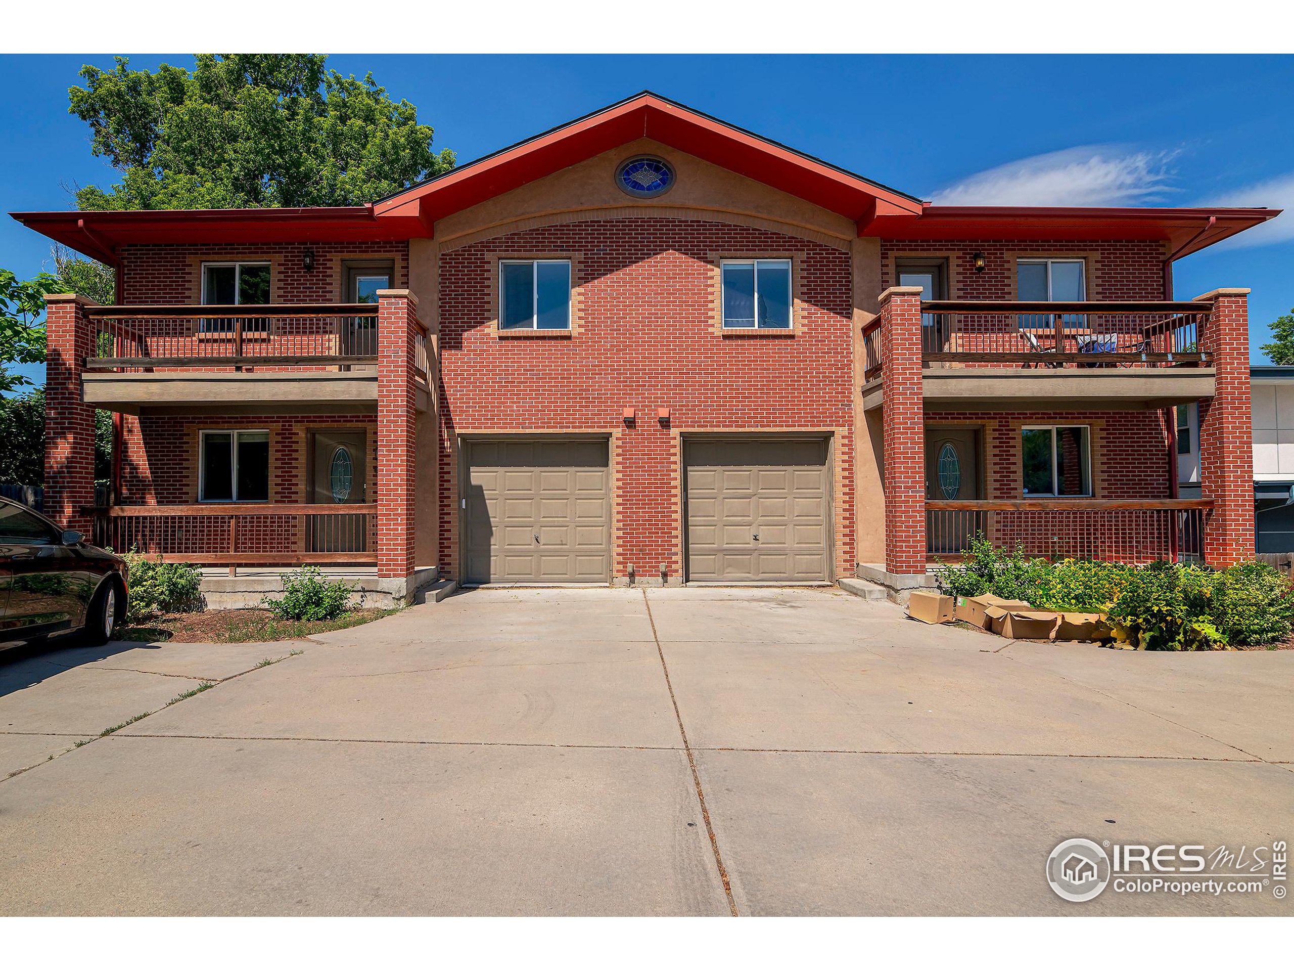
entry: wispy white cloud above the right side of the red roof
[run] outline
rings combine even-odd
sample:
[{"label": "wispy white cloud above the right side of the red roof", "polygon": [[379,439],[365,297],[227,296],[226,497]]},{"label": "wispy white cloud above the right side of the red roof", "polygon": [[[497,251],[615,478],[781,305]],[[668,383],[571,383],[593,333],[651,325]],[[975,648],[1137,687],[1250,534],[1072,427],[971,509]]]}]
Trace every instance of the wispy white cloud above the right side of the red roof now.
[{"label": "wispy white cloud above the right side of the red roof", "polygon": [[934,194],[939,206],[1145,206],[1174,192],[1175,151],[1079,145],[989,168]]}]

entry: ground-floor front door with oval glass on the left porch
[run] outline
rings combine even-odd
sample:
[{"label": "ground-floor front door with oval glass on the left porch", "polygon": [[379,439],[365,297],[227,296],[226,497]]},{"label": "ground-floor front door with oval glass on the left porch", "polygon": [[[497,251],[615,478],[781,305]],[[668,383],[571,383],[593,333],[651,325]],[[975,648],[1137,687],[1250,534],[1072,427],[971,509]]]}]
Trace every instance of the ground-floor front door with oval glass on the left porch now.
[{"label": "ground-floor front door with oval glass on the left porch", "polygon": [[[362,430],[312,431],[308,501],[325,506],[369,502],[367,434]],[[362,553],[369,549],[367,511],[308,517],[307,542],[313,553]]]}]

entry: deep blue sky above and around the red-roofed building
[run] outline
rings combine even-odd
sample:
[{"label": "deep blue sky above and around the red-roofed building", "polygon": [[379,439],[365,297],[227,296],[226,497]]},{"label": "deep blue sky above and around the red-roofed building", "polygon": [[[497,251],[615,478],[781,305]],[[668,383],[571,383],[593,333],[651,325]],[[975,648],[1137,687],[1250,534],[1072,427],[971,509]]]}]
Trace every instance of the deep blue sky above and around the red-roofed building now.
[{"label": "deep blue sky above and around the red-roofed building", "polygon": [[[67,208],[65,185],[114,179],[89,154],[87,126],[67,114],[80,66],[111,62],[0,57],[5,212]],[[131,58],[160,62],[192,58]],[[373,71],[461,162],[650,88],[936,201],[1289,207],[1236,243],[1179,260],[1175,274],[1179,298],[1253,287],[1255,348],[1266,324],[1294,307],[1294,57],[345,54],[329,63]],[[0,218],[0,267],[28,277],[48,264],[44,237]]]}]

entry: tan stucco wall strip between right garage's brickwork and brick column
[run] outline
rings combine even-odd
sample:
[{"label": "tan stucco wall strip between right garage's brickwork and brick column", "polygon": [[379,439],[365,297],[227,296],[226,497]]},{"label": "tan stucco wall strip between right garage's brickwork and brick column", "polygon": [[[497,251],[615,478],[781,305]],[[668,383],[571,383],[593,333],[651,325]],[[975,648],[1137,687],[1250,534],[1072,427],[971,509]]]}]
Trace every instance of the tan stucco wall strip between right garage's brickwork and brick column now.
[{"label": "tan stucco wall strip between right garage's brickwork and brick column", "polygon": [[854,285],[854,517],[859,563],[885,562],[885,489],[881,479],[881,413],[863,410],[863,328],[879,311],[881,241],[853,240],[849,247]]}]

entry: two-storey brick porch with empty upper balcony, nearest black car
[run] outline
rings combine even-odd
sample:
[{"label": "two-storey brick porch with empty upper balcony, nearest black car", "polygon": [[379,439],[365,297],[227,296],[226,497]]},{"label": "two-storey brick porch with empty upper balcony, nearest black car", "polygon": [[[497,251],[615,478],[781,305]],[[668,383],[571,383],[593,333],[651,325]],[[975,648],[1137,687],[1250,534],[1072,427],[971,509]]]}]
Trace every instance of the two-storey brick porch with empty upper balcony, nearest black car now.
[{"label": "two-storey brick porch with empty upper balcony, nearest black car", "polygon": [[[364,602],[409,602],[415,435],[435,422],[433,335],[408,290],[377,303],[98,307],[49,298],[50,515],[115,550],[206,567],[254,606],[296,566]],[[94,408],[115,413],[113,502],[94,504]]]}]

